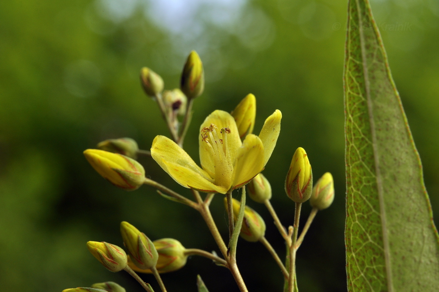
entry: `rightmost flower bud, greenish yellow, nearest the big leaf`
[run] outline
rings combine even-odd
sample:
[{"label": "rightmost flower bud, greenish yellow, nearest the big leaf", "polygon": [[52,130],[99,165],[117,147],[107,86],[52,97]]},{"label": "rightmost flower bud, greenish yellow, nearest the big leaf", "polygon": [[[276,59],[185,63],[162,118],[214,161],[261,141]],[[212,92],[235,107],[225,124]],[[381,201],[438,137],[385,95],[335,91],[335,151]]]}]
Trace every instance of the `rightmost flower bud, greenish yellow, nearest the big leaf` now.
[{"label": "rightmost flower bud, greenish yellow, nearest the big leaf", "polygon": [[331,173],[327,172],[313,187],[309,203],[312,207],[323,210],[331,206],[332,201],[334,201],[334,180]]}]

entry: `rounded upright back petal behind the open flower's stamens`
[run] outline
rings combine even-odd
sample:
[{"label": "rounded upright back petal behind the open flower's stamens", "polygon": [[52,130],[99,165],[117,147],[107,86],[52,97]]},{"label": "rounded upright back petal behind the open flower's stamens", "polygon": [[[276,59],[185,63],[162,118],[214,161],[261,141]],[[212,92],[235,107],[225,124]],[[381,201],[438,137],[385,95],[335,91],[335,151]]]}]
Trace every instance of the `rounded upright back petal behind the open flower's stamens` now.
[{"label": "rounded upright back petal behind the open flower's stamens", "polygon": [[201,137],[201,130],[204,127],[209,127],[210,124],[215,124],[219,130],[222,128],[230,128],[230,134],[227,134],[227,147],[230,151],[230,160],[234,161],[238,148],[241,146],[241,139],[239,138],[238,128],[235,123],[235,119],[222,110],[215,110],[211,113],[200,127],[200,135],[198,136],[198,142],[200,146],[200,163],[201,167],[209,173],[211,177],[215,175],[215,164],[212,157],[209,145],[203,141]]}]

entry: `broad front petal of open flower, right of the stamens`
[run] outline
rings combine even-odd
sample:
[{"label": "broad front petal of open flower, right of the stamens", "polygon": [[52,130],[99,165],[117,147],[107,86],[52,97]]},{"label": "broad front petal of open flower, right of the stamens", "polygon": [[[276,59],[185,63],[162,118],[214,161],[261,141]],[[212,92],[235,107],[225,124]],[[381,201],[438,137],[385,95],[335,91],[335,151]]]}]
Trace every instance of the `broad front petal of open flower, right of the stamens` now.
[{"label": "broad front petal of open flower, right of the stamens", "polygon": [[245,137],[233,167],[234,188],[241,187],[248,183],[264,168],[264,146],[261,139],[253,134]]}]

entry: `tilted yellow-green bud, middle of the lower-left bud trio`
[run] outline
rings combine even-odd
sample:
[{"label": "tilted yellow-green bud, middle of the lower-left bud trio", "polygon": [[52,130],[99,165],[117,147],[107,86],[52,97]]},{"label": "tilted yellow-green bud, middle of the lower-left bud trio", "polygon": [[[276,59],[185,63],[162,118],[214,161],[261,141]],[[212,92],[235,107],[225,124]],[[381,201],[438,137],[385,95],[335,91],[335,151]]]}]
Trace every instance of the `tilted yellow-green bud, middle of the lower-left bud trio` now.
[{"label": "tilted yellow-green bud, middle of the lower-left bud trio", "polygon": [[156,266],[158,253],[152,241],[136,227],[126,221],[120,223],[125,247],[130,253],[130,259],[140,269],[146,270]]}]

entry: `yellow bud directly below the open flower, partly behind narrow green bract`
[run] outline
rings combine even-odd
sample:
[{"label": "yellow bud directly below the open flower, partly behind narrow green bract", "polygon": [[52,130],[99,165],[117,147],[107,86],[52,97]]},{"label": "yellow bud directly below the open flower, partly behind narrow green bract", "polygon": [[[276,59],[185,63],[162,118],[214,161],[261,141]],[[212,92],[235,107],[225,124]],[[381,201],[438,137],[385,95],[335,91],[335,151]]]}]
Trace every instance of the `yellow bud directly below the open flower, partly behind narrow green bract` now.
[{"label": "yellow bud directly below the open flower, partly behind narrow green bract", "polygon": [[[241,203],[238,200],[232,199],[233,205],[233,220],[236,223],[238,219],[239,209]],[[224,206],[227,209],[227,198],[224,198]],[[265,222],[262,217],[252,208],[245,206],[244,219],[242,220],[241,237],[246,241],[259,241],[265,235]]]}]

